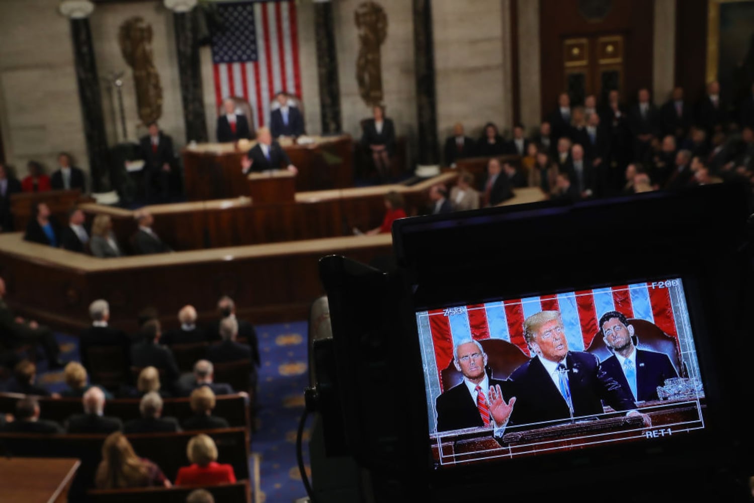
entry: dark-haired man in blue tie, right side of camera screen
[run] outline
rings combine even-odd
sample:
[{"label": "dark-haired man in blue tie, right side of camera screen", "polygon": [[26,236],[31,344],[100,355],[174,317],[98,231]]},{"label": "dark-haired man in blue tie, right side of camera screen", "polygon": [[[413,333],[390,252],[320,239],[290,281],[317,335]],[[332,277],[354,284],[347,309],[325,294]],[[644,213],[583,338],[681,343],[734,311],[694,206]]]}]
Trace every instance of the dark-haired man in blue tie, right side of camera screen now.
[{"label": "dark-haired man in blue tie, right side of camera screen", "polygon": [[665,385],[665,379],[678,377],[667,354],[636,348],[633,325],[624,314],[618,311],[602,314],[599,331],[613,352],[600,363],[602,369],[637,402],[657,400],[657,386]]}]

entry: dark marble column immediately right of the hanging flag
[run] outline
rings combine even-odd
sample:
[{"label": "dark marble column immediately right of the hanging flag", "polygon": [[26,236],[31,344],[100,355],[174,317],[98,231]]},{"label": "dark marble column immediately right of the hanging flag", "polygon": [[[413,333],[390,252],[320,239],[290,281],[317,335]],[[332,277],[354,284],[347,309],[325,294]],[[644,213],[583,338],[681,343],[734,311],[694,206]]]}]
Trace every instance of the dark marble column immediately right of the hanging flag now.
[{"label": "dark marble column immediately right of the hanging flag", "polygon": [[314,0],[314,38],[317,41],[317,81],[320,87],[322,134],[340,133],[340,81],[335,46],[333,3]]}]

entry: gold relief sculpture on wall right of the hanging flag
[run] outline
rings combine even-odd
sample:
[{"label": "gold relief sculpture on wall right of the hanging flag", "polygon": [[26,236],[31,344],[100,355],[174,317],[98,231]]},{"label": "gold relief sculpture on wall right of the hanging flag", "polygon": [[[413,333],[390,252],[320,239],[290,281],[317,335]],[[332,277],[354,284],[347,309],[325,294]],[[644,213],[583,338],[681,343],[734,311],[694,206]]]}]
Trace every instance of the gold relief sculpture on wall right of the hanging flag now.
[{"label": "gold relief sculpture on wall right of the hanging flag", "polygon": [[388,36],[388,16],[376,2],[363,2],[354,13],[359,32],[359,57],[356,81],[359,93],[368,106],[382,103],[382,63],[380,46]]}]

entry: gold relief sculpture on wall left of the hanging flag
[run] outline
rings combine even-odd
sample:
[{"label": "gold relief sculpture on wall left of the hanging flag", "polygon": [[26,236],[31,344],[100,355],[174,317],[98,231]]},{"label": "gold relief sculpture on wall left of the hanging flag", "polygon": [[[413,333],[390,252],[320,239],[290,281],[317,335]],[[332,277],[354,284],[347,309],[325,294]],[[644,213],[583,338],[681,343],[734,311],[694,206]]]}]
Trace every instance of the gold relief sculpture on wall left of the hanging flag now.
[{"label": "gold relief sculpture on wall left of the hanging flag", "polygon": [[162,115],[162,87],[152,54],[152,26],[142,17],[130,17],[118,32],[123,59],[133,69],[136,84],[136,106],[144,124],[157,121]]}]

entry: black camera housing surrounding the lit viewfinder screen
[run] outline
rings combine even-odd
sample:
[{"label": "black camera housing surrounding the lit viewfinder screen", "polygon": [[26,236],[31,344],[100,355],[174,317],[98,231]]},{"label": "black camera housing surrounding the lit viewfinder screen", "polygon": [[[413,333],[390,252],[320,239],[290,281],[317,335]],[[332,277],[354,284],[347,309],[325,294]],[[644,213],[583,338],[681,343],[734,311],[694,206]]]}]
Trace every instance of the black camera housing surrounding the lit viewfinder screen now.
[{"label": "black camera housing surrounding the lit viewfinder screen", "polygon": [[[391,271],[321,259],[333,338],[314,343],[308,396],[327,454],[350,455],[369,472],[374,501],[415,501],[417,492],[421,501],[746,501],[754,474],[745,412],[754,355],[749,213],[739,186],[498,207],[397,221]],[[462,434],[444,443],[429,391],[441,367],[428,365],[433,348],[417,335],[419,313],[617,284],[651,289],[668,278],[683,285],[687,342],[704,388],[699,428],[674,426],[682,434],[667,428],[667,436],[644,428],[638,440],[533,455],[472,453],[468,462],[456,442]],[[492,432],[474,435],[489,445]],[[443,449],[456,449],[452,462],[443,462]]]}]

